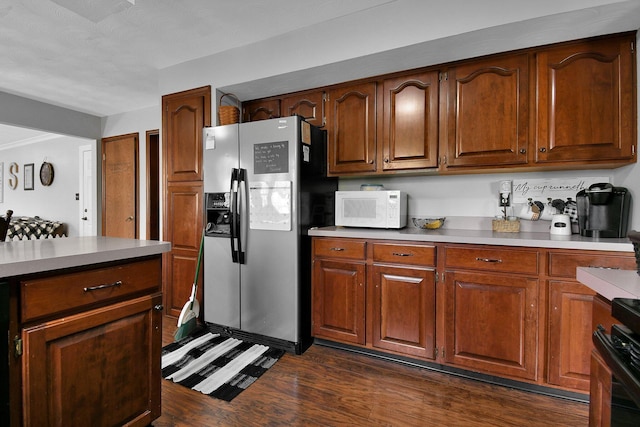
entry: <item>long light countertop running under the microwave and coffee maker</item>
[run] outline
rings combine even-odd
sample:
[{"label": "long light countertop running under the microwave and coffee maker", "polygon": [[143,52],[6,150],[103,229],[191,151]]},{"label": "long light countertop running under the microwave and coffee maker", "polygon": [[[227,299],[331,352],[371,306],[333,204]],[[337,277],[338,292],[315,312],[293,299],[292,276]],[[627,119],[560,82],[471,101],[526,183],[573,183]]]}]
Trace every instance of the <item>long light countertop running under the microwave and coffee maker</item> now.
[{"label": "long light countertop running under the microwave and coffee maker", "polygon": [[310,229],[309,235],[324,237],[350,237],[358,239],[408,240],[433,243],[467,243],[479,245],[633,252],[633,244],[627,238],[594,239],[591,237],[582,237],[579,234],[573,234],[571,236],[552,236],[548,231],[498,233],[491,230],[449,228],[423,230],[412,226],[407,226],[400,230],[321,227]]}]

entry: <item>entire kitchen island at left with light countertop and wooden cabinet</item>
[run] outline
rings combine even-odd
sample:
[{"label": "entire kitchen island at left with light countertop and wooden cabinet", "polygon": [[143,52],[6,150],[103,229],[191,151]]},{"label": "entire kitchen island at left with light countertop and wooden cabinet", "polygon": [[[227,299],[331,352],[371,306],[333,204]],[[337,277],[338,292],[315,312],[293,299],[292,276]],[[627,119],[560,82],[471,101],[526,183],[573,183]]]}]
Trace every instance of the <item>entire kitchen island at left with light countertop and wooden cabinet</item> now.
[{"label": "entire kitchen island at left with light countertop and wooden cabinet", "polygon": [[8,331],[0,404],[9,425],[146,426],[160,415],[170,249],[108,237],[0,243]]}]

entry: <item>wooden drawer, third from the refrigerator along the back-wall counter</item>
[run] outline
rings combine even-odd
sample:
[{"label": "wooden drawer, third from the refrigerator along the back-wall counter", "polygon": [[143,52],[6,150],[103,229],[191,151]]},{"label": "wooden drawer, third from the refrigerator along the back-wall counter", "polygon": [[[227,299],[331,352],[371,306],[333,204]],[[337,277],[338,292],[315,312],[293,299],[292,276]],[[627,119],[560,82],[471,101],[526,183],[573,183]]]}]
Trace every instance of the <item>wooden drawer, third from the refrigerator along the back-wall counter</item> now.
[{"label": "wooden drawer, third from the refrigerator along the back-wall counter", "polygon": [[538,274],[538,251],[504,247],[447,247],[447,268]]}]

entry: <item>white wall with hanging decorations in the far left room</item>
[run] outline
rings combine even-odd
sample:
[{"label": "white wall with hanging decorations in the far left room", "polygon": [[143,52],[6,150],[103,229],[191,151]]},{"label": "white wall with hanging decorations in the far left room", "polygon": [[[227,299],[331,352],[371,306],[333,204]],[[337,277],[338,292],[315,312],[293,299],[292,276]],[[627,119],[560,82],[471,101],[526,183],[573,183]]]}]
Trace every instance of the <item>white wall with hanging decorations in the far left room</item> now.
[{"label": "white wall with hanging decorations in the far left room", "polygon": [[[55,139],[36,142],[21,147],[0,150],[0,162],[4,163],[4,198],[0,212],[13,210],[13,216],[39,216],[43,219],[67,224],[68,236],[78,236],[80,223],[79,202],[75,199],[79,192],[80,172],[78,168],[78,147],[92,145],[96,141],[85,138],[60,136]],[[40,166],[43,161],[54,167],[54,179],[50,186],[40,183]],[[9,165],[17,163],[18,186],[9,187]],[[24,189],[24,165],[34,164],[33,190]]]}]

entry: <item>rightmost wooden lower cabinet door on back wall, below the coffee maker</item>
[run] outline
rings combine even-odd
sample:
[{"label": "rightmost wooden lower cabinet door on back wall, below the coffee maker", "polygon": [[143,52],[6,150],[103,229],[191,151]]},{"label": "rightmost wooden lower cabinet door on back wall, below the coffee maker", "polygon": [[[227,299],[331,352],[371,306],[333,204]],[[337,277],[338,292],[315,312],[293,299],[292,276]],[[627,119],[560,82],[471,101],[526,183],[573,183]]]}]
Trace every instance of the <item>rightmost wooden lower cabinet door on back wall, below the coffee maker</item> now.
[{"label": "rightmost wooden lower cabinet door on back wall, below the coffee maker", "polygon": [[580,283],[549,282],[549,384],[589,391],[594,295]]}]

